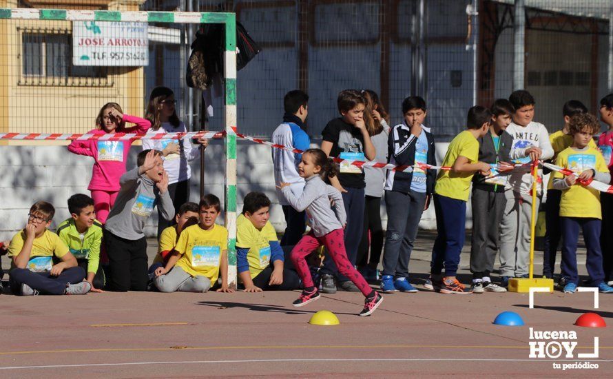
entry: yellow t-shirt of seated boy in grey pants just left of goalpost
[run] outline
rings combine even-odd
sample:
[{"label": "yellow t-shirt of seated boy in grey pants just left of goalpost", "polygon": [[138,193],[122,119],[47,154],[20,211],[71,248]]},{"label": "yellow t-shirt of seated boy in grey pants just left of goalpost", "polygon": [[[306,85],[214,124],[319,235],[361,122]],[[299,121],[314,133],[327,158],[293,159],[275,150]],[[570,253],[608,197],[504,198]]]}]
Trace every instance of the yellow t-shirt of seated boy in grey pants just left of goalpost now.
[{"label": "yellow t-shirt of seated boy in grey pants just left of goalpost", "polygon": [[228,249],[228,230],[221,225],[214,225],[211,230],[191,225],[183,229],[174,249],[182,255],[176,266],[191,276],[206,276],[215,283],[221,255]]}]

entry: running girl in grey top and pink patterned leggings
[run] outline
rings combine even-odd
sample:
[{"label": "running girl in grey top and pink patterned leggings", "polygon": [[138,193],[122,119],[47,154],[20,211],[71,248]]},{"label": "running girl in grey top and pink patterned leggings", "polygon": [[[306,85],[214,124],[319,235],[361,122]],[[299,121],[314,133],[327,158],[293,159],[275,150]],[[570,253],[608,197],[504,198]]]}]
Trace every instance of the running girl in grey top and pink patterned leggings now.
[{"label": "running girl in grey top and pink patterned leggings", "polygon": [[[360,316],[370,316],[383,302],[383,296],[371,289],[364,277],[351,265],[347,258],[344,244],[343,228],[346,225],[346,214],[340,192],[331,185],[326,185],[323,178],[337,174],[336,165],[329,160],[320,149],[309,149],[302,154],[298,165],[298,174],[305,178],[306,184],[300,197],[296,197],[289,183],[281,183],[285,198],[298,212],[306,209],[307,223],[311,232],[303,236],[291,252],[291,260],[304,283],[304,291],[300,298],[293,302],[295,307],[302,307],[320,298],[317,287],[313,284],[309,265],[304,259],[321,245],[328,249],[338,271],[349,278],[366,297],[364,309]],[[330,206],[333,201],[334,210]]]}]

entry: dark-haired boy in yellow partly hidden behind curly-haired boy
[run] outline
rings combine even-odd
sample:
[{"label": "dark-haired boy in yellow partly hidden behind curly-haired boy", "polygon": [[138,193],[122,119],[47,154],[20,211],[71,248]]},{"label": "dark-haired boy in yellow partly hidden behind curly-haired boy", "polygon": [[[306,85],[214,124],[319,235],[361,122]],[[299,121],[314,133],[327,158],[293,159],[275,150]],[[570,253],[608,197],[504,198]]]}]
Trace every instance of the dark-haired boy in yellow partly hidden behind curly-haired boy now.
[{"label": "dark-haired boy in yellow partly hidden behind curly-haired boy", "polygon": [[[562,113],[564,116],[564,127],[562,130],[558,130],[549,135],[549,141],[551,147],[553,147],[552,162],[556,161],[558,154],[562,150],[572,145],[572,136],[568,125],[570,118],[575,114],[588,113],[588,108],[579,100],[570,100],[564,103],[562,107]],[[597,149],[594,140],[590,140],[590,147]],[[543,170],[545,172],[545,170]],[[543,277],[553,278],[554,268],[556,264],[556,253],[560,240],[562,239],[561,225],[560,225],[560,198],[562,192],[559,189],[553,187],[553,174],[549,177],[549,183],[547,185],[547,202],[545,203],[545,240],[543,246]]]}]

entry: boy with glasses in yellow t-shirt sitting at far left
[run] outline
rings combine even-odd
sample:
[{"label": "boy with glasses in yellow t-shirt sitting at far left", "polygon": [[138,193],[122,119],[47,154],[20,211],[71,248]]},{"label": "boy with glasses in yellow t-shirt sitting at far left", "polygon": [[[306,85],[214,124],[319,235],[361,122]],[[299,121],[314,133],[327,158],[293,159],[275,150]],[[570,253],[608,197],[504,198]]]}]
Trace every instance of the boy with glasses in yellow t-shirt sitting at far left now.
[{"label": "boy with glasses in yellow t-shirt sitting at far left", "polygon": [[[46,201],[30,207],[28,224],[15,234],[8,246],[12,258],[10,288],[15,295],[84,295],[90,283],[65,243],[47,228],[55,208]],[[60,262],[53,264],[53,258]]]}]

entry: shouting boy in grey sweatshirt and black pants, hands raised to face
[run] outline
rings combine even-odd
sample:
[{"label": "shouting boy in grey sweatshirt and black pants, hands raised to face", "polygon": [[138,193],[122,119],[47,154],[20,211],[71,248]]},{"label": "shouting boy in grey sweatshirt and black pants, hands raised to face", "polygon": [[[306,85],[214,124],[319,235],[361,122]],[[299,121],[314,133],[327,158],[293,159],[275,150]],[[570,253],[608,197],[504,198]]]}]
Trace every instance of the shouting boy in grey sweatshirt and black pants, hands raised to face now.
[{"label": "shouting boy in grey sweatshirt and black pants, hands raised to face", "polygon": [[104,230],[109,256],[107,285],[112,291],[147,289],[147,238],[143,228],[156,204],[167,220],[174,215],[162,152],[143,150],[138,153],[136,164],[138,167],[119,180],[121,190]]}]

